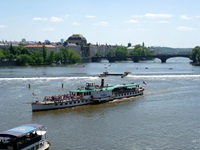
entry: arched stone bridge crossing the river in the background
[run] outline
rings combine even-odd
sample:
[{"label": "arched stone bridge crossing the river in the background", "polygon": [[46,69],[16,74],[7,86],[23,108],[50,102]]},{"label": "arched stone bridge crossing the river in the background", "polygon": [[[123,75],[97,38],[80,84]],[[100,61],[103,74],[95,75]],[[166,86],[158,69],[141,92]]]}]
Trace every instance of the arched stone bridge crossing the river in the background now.
[{"label": "arched stone bridge crossing the river in the background", "polygon": [[[144,59],[152,59],[152,58],[158,58],[161,60],[162,63],[166,63],[167,59],[173,58],[173,57],[186,57],[190,58],[189,54],[160,54],[160,55],[147,55],[147,56],[127,56],[126,59],[131,59],[133,62],[139,62],[139,60],[144,60]],[[114,56],[114,57],[92,57],[91,61],[92,62],[100,62],[102,59],[107,59],[109,62],[115,62],[119,58]]]}]

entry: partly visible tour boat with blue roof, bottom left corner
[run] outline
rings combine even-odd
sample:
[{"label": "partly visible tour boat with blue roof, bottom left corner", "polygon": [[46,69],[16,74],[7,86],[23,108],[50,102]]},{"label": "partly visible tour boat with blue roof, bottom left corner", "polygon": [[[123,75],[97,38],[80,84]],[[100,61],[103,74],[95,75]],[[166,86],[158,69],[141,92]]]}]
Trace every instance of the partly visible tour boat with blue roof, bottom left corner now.
[{"label": "partly visible tour boat with blue roof, bottom left corner", "polygon": [[25,124],[0,132],[0,150],[47,150],[49,147],[46,131],[40,124]]}]

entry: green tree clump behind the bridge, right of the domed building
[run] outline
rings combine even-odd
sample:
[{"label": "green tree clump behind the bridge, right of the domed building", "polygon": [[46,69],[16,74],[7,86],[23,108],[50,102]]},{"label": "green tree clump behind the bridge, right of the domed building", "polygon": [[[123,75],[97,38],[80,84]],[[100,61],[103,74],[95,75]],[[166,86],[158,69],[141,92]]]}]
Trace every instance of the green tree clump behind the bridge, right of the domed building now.
[{"label": "green tree clump behind the bridge, right of the domed building", "polygon": [[120,60],[126,60],[127,56],[148,56],[152,55],[153,52],[150,51],[147,47],[141,46],[140,44],[135,45],[133,49],[127,49],[124,46],[118,46],[114,49],[111,49],[107,57],[117,57]]}]

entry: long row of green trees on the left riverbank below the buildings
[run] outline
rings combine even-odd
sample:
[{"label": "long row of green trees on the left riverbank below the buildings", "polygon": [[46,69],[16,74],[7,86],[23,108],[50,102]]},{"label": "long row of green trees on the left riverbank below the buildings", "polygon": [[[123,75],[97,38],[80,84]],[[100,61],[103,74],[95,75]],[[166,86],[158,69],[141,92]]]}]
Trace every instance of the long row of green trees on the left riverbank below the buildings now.
[{"label": "long row of green trees on the left riverbank below the buildings", "polygon": [[81,57],[67,48],[61,48],[59,52],[47,52],[45,45],[42,51],[30,51],[29,49],[19,45],[13,47],[10,45],[7,51],[0,49],[0,59],[16,59],[18,65],[51,65],[53,63],[78,63]]}]

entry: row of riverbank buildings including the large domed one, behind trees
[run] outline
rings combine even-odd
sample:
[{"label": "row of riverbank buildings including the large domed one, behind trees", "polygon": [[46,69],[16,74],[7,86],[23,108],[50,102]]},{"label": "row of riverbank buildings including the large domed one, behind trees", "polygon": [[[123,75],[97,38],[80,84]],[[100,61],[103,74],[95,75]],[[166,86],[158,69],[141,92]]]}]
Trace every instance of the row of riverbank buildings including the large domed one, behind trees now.
[{"label": "row of riverbank buildings including the large domed one, behind trees", "polygon": [[[106,56],[110,49],[115,48],[117,45],[107,45],[107,44],[91,44],[87,43],[87,39],[81,34],[73,34],[67,38],[67,40],[62,39],[62,42],[50,42],[45,40],[44,42],[33,42],[22,39],[20,42],[0,42],[0,48],[3,50],[8,50],[10,46],[17,47],[23,45],[25,48],[34,51],[42,51],[45,46],[47,53],[51,51],[58,52],[61,48],[67,48],[73,50],[78,55],[81,56],[82,62],[90,62],[93,56]],[[12,60],[9,60],[12,61]],[[7,62],[7,61],[5,61]],[[2,64],[2,63],[1,63]],[[10,63],[9,63],[10,64]]]}]

